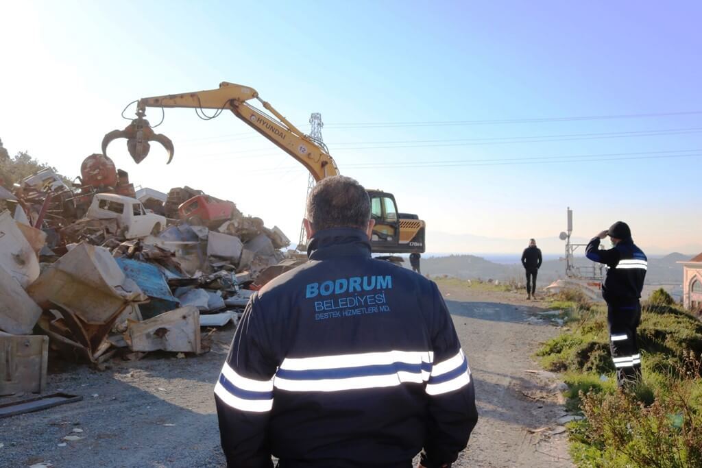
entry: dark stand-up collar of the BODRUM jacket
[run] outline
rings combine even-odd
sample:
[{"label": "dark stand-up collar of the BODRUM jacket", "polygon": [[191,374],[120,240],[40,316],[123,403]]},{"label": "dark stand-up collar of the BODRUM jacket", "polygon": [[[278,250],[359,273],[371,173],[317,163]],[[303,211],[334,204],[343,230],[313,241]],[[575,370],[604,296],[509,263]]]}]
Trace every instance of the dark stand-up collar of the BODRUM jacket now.
[{"label": "dark stand-up collar of the BODRUM jacket", "polygon": [[307,243],[307,258],[326,260],[333,257],[371,256],[371,242],[361,229],[333,228],[315,232]]}]

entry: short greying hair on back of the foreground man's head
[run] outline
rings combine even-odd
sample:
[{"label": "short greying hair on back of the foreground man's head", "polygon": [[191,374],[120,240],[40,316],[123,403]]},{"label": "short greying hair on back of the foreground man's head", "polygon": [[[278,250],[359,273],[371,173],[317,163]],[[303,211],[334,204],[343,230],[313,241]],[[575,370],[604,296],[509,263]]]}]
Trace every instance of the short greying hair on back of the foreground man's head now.
[{"label": "short greying hair on back of the foreground man's head", "polygon": [[366,189],[343,175],[326,178],[307,196],[307,220],[315,232],[333,227],[365,230],[371,219],[371,201]]}]

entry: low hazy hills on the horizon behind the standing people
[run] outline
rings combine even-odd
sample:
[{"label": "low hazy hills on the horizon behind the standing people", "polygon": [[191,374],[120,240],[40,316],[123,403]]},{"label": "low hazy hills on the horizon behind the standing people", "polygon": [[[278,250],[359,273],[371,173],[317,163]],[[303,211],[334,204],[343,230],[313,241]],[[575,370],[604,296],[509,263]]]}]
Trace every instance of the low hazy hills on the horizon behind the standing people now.
[{"label": "low hazy hills on the horizon behind the standing people", "polygon": [[[694,255],[670,253],[661,258],[649,258],[649,268],[646,274],[647,284],[680,284],[682,283],[682,265],[677,262],[689,260]],[[576,265],[587,266],[592,262],[585,257],[576,258]],[[409,266],[409,263],[408,265]],[[501,265],[490,262],[476,255],[446,255],[444,257],[422,258],[422,273],[430,275],[446,274],[462,279],[496,279],[509,281],[522,280],[524,268],[522,265]],[[555,281],[565,276],[565,262],[548,260],[539,269],[540,283]]]}]

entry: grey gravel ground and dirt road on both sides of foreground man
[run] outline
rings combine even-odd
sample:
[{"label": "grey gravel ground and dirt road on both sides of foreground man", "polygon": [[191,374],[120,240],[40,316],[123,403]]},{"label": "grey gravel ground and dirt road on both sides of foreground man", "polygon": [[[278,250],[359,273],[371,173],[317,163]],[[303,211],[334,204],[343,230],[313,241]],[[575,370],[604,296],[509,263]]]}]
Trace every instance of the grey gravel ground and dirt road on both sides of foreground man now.
[{"label": "grey gravel ground and dirt road on both sides of foreground man", "polygon": [[[517,295],[450,284],[442,291],[470,359],[481,417],[454,466],[571,466],[564,434],[548,434],[563,414],[555,380],[525,372],[538,369],[529,356],[557,330],[527,322],[535,309]],[[212,390],[233,332],[214,335],[203,356],[164,354],[114,361],[104,372],[71,366],[53,373],[49,392],[84,400],[0,420],[0,467],[223,467]],[[63,440],[68,435],[81,439]]]}]

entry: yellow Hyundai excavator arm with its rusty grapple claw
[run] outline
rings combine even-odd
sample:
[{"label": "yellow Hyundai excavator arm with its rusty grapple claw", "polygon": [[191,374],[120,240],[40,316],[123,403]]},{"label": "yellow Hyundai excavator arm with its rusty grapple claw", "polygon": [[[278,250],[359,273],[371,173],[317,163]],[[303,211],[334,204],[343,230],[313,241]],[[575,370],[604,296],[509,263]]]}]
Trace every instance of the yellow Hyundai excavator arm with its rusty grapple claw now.
[{"label": "yellow Hyundai excavator arm with its rusty grapple claw", "polygon": [[[248,101],[258,100],[263,108],[273,114],[265,114],[253,107]],[[142,161],[149,151],[148,141],[161,142],[166,147],[171,158],[173,144],[164,135],[155,135],[148,121],[143,119],[147,107],[186,107],[192,109],[215,109],[217,112],[229,109],[235,116],[246,122],[251,128],[273,142],[284,152],[293,156],[314,180],[322,180],[332,175],[338,175],[336,161],[329,155],[323,142],[315,142],[308,135],[298,130],[268,102],[261,100],[255,89],[239,84],[220,83],[218,89],[197,91],[194,93],[171,94],[142,98],[137,104],[137,119],[124,129],[112,131],[102,140],[102,153],[107,155],[107,145],[115,138],[128,138],[128,148],[136,163]],[[164,142],[165,140],[167,142]],[[168,159],[170,162],[170,159]]]}]

